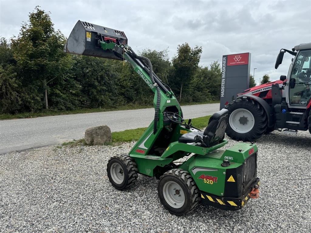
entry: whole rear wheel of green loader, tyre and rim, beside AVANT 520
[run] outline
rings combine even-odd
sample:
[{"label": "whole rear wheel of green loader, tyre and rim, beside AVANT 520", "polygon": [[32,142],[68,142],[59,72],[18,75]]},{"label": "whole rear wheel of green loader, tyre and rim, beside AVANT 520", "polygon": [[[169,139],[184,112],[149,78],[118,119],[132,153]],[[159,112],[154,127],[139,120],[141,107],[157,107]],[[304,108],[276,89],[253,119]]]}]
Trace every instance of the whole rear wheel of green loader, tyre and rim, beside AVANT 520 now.
[{"label": "whole rear wheel of green loader, tyre and rim, beside AVANT 520", "polygon": [[182,169],[167,171],[158,185],[160,202],[170,213],[188,214],[200,201],[199,189],[189,172]]}]

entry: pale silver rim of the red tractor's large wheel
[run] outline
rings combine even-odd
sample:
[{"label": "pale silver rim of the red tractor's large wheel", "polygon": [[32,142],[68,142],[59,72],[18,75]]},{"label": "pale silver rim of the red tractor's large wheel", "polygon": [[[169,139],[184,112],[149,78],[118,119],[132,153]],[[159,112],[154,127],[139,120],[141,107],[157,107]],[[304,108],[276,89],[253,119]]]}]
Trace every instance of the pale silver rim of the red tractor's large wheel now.
[{"label": "pale silver rim of the red tractor's large wheel", "polygon": [[255,118],[248,110],[238,108],[230,114],[229,124],[235,132],[245,134],[253,129]]}]

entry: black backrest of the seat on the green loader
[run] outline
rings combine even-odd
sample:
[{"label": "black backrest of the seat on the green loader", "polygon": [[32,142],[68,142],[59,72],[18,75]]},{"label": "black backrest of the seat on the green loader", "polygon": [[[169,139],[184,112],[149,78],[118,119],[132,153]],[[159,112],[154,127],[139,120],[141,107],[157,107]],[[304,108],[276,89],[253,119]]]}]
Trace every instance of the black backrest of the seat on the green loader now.
[{"label": "black backrest of the seat on the green loader", "polygon": [[223,108],[218,112],[215,112],[210,120],[208,126],[204,130],[205,139],[203,143],[206,146],[213,146],[218,144],[225,137],[225,130],[227,127],[228,110]]}]

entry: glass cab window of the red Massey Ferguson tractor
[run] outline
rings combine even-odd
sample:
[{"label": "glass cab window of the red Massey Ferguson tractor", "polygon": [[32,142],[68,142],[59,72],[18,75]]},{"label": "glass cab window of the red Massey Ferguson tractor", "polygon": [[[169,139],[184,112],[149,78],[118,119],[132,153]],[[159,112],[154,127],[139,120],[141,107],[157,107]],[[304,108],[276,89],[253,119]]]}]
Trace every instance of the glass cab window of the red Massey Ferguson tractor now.
[{"label": "glass cab window of the red Massey Ferguson tractor", "polygon": [[297,56],[290,79],[295,79],[294,88],[290,89],[290,103],[307,105],[311,97],[311,50],[303,50]]}]

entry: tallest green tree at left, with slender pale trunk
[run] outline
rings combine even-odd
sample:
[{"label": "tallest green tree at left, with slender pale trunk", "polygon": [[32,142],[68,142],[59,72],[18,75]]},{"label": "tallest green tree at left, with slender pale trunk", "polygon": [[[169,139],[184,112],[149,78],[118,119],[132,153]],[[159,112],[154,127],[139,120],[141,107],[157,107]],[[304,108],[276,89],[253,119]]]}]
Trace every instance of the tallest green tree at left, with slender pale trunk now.
[{"label": "tallest green tree at left, with slender pale trunk", "polygon": [[[48,91],[63,83],[67,85],[72,68],[71,56],[63,53],[66,38],[59,30],[54,30],[50,13],[35,7],[29,14],[29,22],[21,26],[18,37],[13,37],[12,49],[21,72],[22,85],[27,86],[32,99],[30,108],[40,108],[44,90],[45,108],[48,109]],[[62,88],[61,88],[62,89]],[[54,92],[61,94],[62,90]],[[39,106],[38,106],[39,105]]]}]

